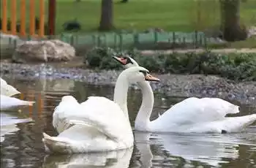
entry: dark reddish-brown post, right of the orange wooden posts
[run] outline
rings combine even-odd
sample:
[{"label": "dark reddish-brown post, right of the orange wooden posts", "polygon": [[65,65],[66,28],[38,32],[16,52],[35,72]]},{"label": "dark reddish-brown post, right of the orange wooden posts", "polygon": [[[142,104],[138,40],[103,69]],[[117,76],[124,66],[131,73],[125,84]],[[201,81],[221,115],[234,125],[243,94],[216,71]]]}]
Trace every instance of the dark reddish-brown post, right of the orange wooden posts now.
[{"label": "dark reddish-brown post, right of the orange wooden posts", "polygon": [[55,35],[56,0],[49,0],[48,12],[48,33],[50,36],[53,36]]}]

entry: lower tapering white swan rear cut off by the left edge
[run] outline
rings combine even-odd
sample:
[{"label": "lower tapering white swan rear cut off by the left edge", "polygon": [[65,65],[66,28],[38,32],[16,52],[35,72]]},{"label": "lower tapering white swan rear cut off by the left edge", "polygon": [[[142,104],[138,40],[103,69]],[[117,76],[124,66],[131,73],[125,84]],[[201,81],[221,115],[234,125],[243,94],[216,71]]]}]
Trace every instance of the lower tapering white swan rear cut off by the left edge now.
[{"label": "lower tapering white swan rear cut off by the left edge", "polygon": [[8,110],[20,106],[33,106],[34,102],[24,101],[15,97],[0,95],[0,110]]}]

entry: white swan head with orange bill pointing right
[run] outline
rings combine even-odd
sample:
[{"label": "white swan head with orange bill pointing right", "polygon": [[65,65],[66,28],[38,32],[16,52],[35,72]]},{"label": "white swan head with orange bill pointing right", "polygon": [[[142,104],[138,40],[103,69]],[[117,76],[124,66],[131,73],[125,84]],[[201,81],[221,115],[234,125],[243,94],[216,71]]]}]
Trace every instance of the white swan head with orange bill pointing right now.
[{"label": "white swan head with orange bill pointing right", "polygon": [[157,77],[149,74],[148,69],[143,68],[142,66],[133,66],[128,69],[125,69],[121,74],[127,75],[129,81],[132,83],[143,82],[143,81],[155,81],[159,82],[160,80]]}]

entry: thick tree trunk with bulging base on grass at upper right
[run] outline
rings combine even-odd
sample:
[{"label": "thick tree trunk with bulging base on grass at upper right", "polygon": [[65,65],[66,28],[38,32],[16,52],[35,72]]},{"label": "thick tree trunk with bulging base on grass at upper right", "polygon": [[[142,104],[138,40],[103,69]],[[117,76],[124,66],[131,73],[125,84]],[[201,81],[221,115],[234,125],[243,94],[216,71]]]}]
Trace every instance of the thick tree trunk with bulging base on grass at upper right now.
[{"label": "thick tree trunk with bulging base on grass at upper right", "polygon": [[219,0],[223,38],[229,42],[244,40],[246,28],[240,25],[240,0]]}]

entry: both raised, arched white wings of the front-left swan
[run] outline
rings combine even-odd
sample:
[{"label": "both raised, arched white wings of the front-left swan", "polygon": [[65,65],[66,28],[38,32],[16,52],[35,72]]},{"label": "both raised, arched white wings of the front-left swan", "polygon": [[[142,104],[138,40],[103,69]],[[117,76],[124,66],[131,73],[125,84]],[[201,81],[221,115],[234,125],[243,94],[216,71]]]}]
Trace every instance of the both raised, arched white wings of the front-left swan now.
[{"label": "both raised, arched white wings of the front-left swan", "polygon": [[[61,100],[53,112],[53,127],[59,133],[74,125],[88,125],[112,140],[132,141],[132,129],[121,108],[100,96],[91,96],[79,104],[75,98]],[[130,140],[132,139],[132,140]]]}]

